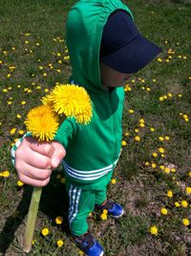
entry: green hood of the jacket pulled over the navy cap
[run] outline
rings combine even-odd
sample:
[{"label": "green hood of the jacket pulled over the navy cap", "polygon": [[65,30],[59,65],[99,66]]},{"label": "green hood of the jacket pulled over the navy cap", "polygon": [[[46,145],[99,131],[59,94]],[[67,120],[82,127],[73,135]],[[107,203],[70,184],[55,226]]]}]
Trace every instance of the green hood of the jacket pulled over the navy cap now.
[{"label": "green hood of the jacket pulled over the navy cap", "polygon": [[101,37],[108,17],[117,10],[128,12],[133,17],[119,0],[81,0],[68,14],[66,38],[73,69],[72,80],[87,90],[103,90],[99,72]]}]

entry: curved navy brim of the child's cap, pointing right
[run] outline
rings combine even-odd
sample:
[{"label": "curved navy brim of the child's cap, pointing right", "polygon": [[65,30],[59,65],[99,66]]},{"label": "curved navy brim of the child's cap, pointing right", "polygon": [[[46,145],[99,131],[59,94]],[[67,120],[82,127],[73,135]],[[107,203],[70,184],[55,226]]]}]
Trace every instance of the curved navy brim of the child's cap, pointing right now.
[{"label": "curved navy brim of the child's cap, pointing right", "polygon": [[115,70],[132,74],[138,72],[161,52],[156,44],[138,35],[131,42],[100,60]]}]

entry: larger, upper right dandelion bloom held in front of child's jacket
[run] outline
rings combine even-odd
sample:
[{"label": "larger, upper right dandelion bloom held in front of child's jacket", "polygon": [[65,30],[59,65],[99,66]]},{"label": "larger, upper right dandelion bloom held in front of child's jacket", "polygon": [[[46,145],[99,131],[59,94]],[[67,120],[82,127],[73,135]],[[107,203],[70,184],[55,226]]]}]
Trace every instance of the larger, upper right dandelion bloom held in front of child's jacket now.
[{"label": "larger, upper right dandelion bloom held in front of child's jacket", "polygon": [[43,104],[53,105],[60,115],[74,117],[77,123],[88,124],[92,118],[92,103],[87,91],[74,84],[56,85]]}]

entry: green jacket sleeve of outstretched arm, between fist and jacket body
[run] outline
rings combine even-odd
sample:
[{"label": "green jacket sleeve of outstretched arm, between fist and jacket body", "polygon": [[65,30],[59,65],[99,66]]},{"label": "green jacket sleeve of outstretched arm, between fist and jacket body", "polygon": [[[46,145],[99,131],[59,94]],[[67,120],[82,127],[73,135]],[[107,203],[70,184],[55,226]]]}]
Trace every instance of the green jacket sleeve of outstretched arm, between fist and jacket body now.
[{"label": "green jacket sleeve of outstretched arm, between fist and jacket body", "polygon": [[66,149],[69,141],[73,139],[76,129],[77,125],[74,118],[67,118],[58,128],[53,140],[61,143]]}]

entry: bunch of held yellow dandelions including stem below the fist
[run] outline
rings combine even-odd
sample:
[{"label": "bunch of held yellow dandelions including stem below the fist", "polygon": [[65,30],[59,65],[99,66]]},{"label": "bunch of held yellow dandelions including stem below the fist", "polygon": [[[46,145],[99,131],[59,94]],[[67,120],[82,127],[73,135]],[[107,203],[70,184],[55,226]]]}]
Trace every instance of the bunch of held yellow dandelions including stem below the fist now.
[{"label": "bunch of held yellow dandelions including stem below the fist", "polygon": [[[42,104],[32,108],[25,121],[27,130],[39,142],[51,142],[62,120],[74,117],[76,122],[87,125],[92,118],[92,104],[87,91],[74,84],[56,85],[52,92],[42,99]],[[42,188],[34,187],[24,235],[24,250],[30,252],[36,216]]]}]

